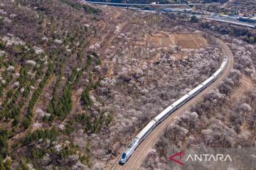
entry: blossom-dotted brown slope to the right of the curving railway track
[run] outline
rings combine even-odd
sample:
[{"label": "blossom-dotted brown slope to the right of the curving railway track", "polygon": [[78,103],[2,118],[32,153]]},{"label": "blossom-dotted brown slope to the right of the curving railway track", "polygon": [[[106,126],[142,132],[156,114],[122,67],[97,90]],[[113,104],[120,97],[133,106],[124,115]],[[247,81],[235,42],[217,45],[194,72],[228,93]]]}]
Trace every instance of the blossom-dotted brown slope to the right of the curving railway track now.
[{"label": "blossom-dotted brown slope to the right of the curving railway track", "polygon": [[[201,103],[177,116],[144,159],[140,169],[174,169],[177,164],[168,159],[170,155],[181,150],[188,153],[213,153],[216,148],[220,149],[218,153],[228,151],[225,153],[230,155],[231,149],[237,149],[237,153],[232,155],[236,161],[232,164],[186,162],[183,168],[255,167],[252,154],[240,153],[242,149],[247,149],[247,153],[255,152],[256,144],[256,54],[255,45],[247,41],[247,35],[255,36],[255,30],[208,21],[203,21],[199,25],[201,29],[218,35],[218,38],[226,42],[234,55],[234,68],[218,88],[208,91]],[[245,159],[247,162],[243,161]]]}]

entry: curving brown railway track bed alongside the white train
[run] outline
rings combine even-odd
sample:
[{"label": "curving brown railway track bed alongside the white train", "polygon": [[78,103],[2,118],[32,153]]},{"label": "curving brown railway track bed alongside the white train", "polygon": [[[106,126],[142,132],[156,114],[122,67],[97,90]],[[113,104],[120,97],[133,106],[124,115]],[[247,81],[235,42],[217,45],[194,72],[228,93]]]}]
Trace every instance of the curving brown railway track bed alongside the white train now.
[{"label": "curving brown railway track bed alongside the white train", "polygon": [[156,126],[156,128],[154,128],[154,130],[149,134],[149,136],[147,136],[146,139],[139,145],[139,147],[137,147],[137,149],[134,151],[134,154],[132,154],[132,156],[129,158],[129,160],[126,164],[120,165],[119,164],[119,157],[117,157],[116,162],[112,166],[113,170],[139,169],[139,166],[144,161],[144,158],[146,157],[146,154],[148,154],[150,149],[154,147],[154,145],[156,144],[159,137],[161,137],[161,135],[163,134],[166,127],[174,120],[174,118],[176,118],[177,115],[180,115],[184,111],[187,111],[188,108],[190,108],[191,106],[193,106],[196,103],[198,103],[199,101],[201,101],[203,96],[205,96],[206,93],[210,89],[215,89],[220,84],[220,81],[222,81],[223,79],[228,77],[228,74],[230,73],[230,70],[233,68],[233,54],[230,51],[230,49],[228,48],[228,46],[225,45],[224,42],[221,42],[219,40],[219,44],[222,47],[223,54],[228,56],[227,65],[226,65],[225,70],[223,71],[223,73],[220,75],[220,77],[218,77],[218,79],[216,79],[213,82],[213,84],[210,84],[210,86],[208,86],[206,89],[201,91],[200,94],[191,98],[190,101],[188,101],[186,104],[184,104],[181,108],[178,108],[178,110],[176,110],[174,113],[169,115],[169,117],[166,118],[166,120],[164,120],[162,123],[160,123],[158,126]]}]

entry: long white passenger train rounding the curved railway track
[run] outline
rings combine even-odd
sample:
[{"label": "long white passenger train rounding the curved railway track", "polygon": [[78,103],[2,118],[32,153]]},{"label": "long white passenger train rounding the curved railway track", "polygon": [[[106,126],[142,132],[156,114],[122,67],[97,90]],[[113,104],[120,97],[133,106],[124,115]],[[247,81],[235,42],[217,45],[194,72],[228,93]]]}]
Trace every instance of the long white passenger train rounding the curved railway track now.
[{"label": "long white passenger train rounding the curved railway track", "polygon": [[165,118],[167,118],[171,113],[176,111],[177,108],[180,108],[184,103],[189,101],[191,98],[199,94],[203,89],[205,89],[207,86],[209,86],[215,79],[217,79],[220,74],[223,72],[225,65],[227,64],[228,57],[223,57],[223,62],[220,64],[220,68],[206,81],[203,81],[202,84],[197,86],[195,89],[188,92],[188,94],[182,96],[178,99],[178,101],[174,102],[166,108],[164,111],[162,111],[159,115],[156,116],[153,120],[151,120],[145,128],[139,134],[132,139],[132,142],[129,143],[129,145],[125,148],[124,152],[122,152],[120,163],[125,164],[127,162],[127,159],[131,157],[134,150],[138,147],[138,145],[145,139],[147,135],[157,126],[159,123],[161,123]]}]

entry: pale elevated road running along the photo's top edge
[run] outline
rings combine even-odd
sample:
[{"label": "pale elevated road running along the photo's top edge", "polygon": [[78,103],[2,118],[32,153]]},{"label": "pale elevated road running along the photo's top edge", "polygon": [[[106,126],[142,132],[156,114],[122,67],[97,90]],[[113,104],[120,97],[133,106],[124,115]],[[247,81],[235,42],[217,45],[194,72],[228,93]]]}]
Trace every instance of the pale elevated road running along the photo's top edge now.
[{"label": "pale elevated road running along the photo's top edge", "polygon": [[[89,4],[101,4],[112,6],[206,6],[210,4],[124,4],[124,3],[112,3],[112,2],[98,2],[98,1],[86,1]],[[212,3],[213,4],[213,3]]]}]

